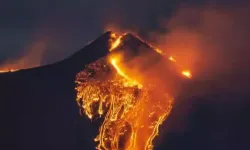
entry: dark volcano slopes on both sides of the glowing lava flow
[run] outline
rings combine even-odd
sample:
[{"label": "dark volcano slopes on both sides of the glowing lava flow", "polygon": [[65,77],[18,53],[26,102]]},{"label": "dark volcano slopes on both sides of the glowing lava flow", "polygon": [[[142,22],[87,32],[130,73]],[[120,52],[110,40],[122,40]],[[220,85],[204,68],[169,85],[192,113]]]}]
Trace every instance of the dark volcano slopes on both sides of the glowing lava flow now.
[{"label": "dark volcano slopes on both sides of the glowing lava flow", "polygon": [[[125,63],[143,56],[140,59],[143,63],[136,65],[143,74],[164,57],[132,34],[123,36],[122,44],[110,52],[110,37],[112,32],[106,32],[57,63],[0,74],[2,149],[91,150],[96,147],[93,139],[100,122],[91,122],[79,115],[75,101],[76,75],[86,65],[110,53],[123,52]],[[133,63],[126,66],[130,68]],[[166,63],[164,70],[167,70],[169,90],[174,85],[181,86],[180,91],[171,91],[180,100],[160,129],[163,136],[155,149],[249,148],[247,114],[250,109],[245,105],[249,102],[249,94],[222,92],[211,87],[213,81],[186,80],[171,69],[172,66],[171,62]],[[201,88],[207,92],[193,92]],[[242,117],[245,119],[241,120]]]}]

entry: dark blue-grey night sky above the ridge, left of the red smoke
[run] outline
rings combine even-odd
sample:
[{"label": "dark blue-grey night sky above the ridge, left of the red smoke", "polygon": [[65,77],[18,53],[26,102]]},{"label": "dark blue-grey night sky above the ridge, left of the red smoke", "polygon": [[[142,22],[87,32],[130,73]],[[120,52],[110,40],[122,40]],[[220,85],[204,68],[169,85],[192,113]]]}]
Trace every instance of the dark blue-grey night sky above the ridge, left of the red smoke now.
[{"label": "dark blue-grey night sky above the ridge, left of the red smoke", "polygon": [[42,64],[60,60],[96,39],[110,23],[150,33],[180,2],[205,0],[2,0],[0,64],[27,53],[26,59],[39,55],[33,59]]}]

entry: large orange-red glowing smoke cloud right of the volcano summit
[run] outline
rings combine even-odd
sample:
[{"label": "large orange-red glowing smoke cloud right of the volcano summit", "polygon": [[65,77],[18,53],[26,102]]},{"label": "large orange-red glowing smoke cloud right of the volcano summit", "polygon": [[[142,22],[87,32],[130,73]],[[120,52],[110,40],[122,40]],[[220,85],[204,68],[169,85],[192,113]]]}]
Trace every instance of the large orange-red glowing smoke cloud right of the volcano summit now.
[{"label": "large orange-red glowing smoke cloud right of the volcano summit", "polygon": [[230,6],[180,5],[170,20],[161,22],[167,34],[155,32],[151,38],[196,77],[246,71],[250,56],[250,5]]}]

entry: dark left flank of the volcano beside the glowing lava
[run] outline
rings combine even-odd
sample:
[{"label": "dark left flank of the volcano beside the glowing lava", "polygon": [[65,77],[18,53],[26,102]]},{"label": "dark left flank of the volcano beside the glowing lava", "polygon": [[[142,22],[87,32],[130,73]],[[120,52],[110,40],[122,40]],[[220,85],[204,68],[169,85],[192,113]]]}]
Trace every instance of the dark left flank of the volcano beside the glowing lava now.
[{"label": "dark left flank of the volcano beside the glowing lava", "polygon": [[61,62],[0,74],[1,149],[95,147],[97,129],[79,118],[74,81],[86,64],[108,53],[109,34]]}]

